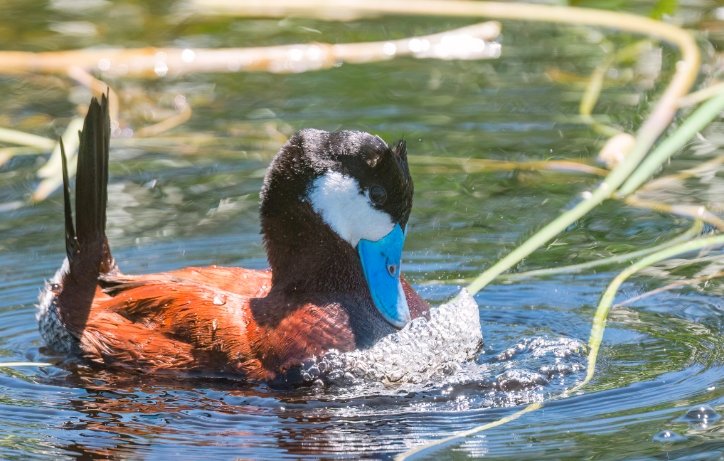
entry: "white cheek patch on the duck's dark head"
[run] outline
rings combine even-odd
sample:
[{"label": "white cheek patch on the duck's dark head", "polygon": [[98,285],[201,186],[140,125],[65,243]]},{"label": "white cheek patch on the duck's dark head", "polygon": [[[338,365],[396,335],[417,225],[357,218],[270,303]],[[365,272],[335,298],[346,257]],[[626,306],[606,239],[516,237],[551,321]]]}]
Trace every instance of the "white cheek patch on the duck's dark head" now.
[{"label": "white cheek patch on the duck's dark head", "polygon": [[356,179],[336,171],[315,179],[307,197],[314,211],[352,247],[360,239],[381,239],[395,225],[390,215],[375,209],[369,198],[360,193]]}]

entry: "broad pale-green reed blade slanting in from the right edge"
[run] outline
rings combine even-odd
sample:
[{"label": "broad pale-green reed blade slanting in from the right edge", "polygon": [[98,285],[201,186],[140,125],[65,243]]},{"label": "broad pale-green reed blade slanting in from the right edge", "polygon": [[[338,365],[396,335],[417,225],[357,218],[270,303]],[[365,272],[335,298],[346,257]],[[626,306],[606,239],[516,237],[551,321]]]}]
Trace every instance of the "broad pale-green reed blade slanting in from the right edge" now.
[{"label": "broad pale-green reed blade slanting in from the right edge", "polygon": [[641,165],[631,174],[631,177],[626,180],[626,183],[621,186],[621,189],[616,195],[625,197],[636,189],[641,184],[647,181],[654,172],[671,157],[676,151],[681,149],[696,133],[704,129],[714,118],[721,115],[724,111],[724,89],[704,102],[698,109],[696,109],[691,115],[689,115],[684,123],[666,140],[659,144],[651,154],[646,157]]}]

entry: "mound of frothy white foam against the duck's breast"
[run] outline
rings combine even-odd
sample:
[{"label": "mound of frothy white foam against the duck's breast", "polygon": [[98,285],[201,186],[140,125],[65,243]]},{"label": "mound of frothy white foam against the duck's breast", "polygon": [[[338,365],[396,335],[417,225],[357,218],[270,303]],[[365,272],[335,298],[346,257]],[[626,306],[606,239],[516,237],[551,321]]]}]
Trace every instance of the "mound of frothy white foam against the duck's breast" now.
[{"label": "mound of frothy white foam against the duck's breast", "polygon": [[478,305],[467,291],[430,310],[369,349],[331,350],[302,366],[302,379],[316,385],[387,386],[438,380],[457,372],[482,345]]}]

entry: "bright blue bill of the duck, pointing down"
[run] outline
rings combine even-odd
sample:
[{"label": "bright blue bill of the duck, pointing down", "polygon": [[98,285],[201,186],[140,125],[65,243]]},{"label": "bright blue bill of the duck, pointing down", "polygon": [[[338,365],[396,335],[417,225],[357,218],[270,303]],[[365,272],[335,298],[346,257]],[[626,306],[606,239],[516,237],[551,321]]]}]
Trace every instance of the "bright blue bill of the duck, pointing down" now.
[{"label": "bright blue bill of the duck, pointing down", "polygon": [[377,241],[360,240],[357,253],[362,262],[372,301],[380,314],[397,328],[410,321],[410,308],[400,283],[400,261],[405,233],[396,224],[389,234]]}]

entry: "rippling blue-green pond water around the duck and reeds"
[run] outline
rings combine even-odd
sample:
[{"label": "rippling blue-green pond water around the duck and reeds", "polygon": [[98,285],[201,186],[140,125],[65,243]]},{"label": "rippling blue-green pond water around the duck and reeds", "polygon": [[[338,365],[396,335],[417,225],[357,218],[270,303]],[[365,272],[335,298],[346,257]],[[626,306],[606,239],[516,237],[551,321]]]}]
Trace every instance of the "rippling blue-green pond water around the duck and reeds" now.
[{"label": "rippling blue-green pond water around the duck and reeds", "polygon": [[[651,5],[628,7],[645,13]],[[109,21],[111,6],[104,2],[87,2],[80,10],[63,1],[5,2],[0,5],[0,43],[6,49],[45,50],[99,43],[343,42],[401,38],[470,23],[183,18],[177,6],[116,2]],[[715,6],[682,6],[677,18],[687,27],[707,28],[708,40],[721,46]],[[194,264],[265,267],[257,194],[271,156],[303,127],[363,129],[388,141],[408,140],[416,196],[403,270],[431,302],[449,300],[463,285],[460,280],[475,276],[572,206],[596,178],[481,171],[434,159],[590,159],[603,138],[575,117],[583,91],[575,76],[588,75],[602,62],[602,49],[632,40],[583,28],[503,27],[502,57],[496,61],[405,58],[297,75],[109,80],[123,98],[126,135],[173,113],[179,95],[193,109],[191,119],[172,131],[113,140],[109,238],[121,267],[128,273]],[[717,70],[711,48],[704,50],[707,79]],[[663,73],[656,78],[639,69],[641,74],[627,79],[630,70],[617,69],[612,75],[617,80],[606,87],[597,112],[624,128],[636,127],[661,90],[660,82],[671,75],[672,52],[660,57]],[[656,52],[647,58],[656,63]],[[562,78],[556,75],[569,77],[555,80]],[[0,77],[0,91],[0,126],[51,137],[63,132],[74,105],[88,100],[85,91],[54,76]],[[667,171],[720,155],[721,122]],[[0,458],[391,458],[543,400],[550,400],[544,409],[436,456],[722,457],[724,290],[717,279],[614,309],[593,382],[566,398],[561,398],[565,389],[585,373],[590,319],[615,267],[492,284],[475,297],[482,349],[465,352],[473,360],[419,380],[274,390],[220,378],[119,375],[63,361],[43,347],[34,319],[43,280],[64,254],[59,195],[35,205],[25,202],[42,162],[37,156],[16,157],[0,167],[0,360],[56,365],[0,370]],[[721,172],[715,171],[656,193],[711,206],[721,203],[721,187]],[[607,203],[517,270],[636,250],[689,225],[686,218]],[[714,256],[721,264],[721,253]],[[617,300],[712,267],[681,263],[632,279]],[[464,312],[475,315],[474,308]]]}]

